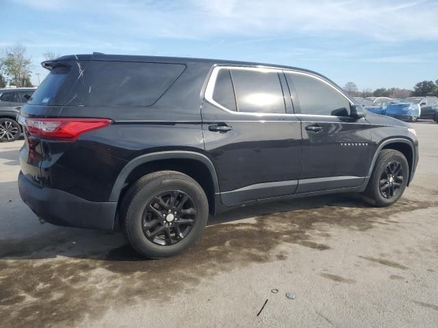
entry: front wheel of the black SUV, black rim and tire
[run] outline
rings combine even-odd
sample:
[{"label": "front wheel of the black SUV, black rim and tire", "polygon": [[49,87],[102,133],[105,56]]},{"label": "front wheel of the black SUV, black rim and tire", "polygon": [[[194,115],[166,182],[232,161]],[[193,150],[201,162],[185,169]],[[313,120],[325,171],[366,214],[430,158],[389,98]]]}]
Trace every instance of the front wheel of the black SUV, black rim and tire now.
[{"label": "front wheel of the black SUV, black rim and tire", "polygon": [[[398,167],[401,171],[397,172]],[[406,157],[398,150],[384,149],[377,156],[370,181],[362,194],[362,198],[373,206],[390,206],[402,196],[408,178],[409,164]],[[398,187],[396,184],[398,184]]]}]

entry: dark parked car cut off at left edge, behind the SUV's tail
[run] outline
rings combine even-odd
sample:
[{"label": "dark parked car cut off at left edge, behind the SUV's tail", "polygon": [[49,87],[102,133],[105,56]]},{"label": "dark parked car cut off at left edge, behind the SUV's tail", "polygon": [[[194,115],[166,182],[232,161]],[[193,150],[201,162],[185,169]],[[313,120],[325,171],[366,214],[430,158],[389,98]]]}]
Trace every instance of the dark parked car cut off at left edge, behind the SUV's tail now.
[{"label": "dark parked car cut off at left edge, behind the SUV's tail", "polygon": [[0,89],[0,141],[15,141],[21,135],[16,118],[35,88]]}]

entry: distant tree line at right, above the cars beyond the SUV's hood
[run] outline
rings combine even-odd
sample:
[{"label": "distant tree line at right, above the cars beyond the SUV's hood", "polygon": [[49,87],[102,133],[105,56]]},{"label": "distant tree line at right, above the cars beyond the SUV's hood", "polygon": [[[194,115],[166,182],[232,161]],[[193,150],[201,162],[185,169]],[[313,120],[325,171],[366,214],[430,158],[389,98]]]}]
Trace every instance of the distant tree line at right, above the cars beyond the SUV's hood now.
[{"label": "distant tree line at right, above the cars beyond the SUV's hood", "polygon": [[398,87],[379,87],[376,90],[364,89],[359,91],[357,85],[353,82],[347,82],[344,90],[353,97],[389,97],[389,98],[407,98],[410,96],[438,96],[438,80],[422,81],[414,85],[413,90],[400,89]]}]

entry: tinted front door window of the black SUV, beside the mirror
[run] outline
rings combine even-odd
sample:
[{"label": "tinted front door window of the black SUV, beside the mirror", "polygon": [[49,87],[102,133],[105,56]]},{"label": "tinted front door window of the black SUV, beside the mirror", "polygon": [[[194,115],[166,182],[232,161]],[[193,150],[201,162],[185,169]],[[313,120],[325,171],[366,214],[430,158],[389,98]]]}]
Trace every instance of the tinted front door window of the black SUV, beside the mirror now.
[{"label": "tinted front door window of the black SUV, beside the mirror", "polygon": [[287,73],[292,78],[301,113],[313,115],[347,116],[350,102],[320,79],[305,74]]}]

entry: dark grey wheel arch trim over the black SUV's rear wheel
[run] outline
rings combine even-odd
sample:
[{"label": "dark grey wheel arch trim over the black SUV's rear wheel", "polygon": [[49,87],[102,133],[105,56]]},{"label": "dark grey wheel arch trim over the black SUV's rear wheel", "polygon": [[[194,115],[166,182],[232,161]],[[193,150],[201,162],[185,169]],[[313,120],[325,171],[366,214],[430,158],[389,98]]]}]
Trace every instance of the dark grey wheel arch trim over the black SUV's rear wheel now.
[{"label": "dark grey wheel arch trim over the black SUV's rear wheel", "polygon": [[207,156],[190,151],[154,152],[129,161],[114,182],[109,202],[119,202],[127,187],[141,176],[168,169],[187,174],[201,184],[207,195],[209,212],[215,213],[214,200],[219,193],[216,169]]}]

